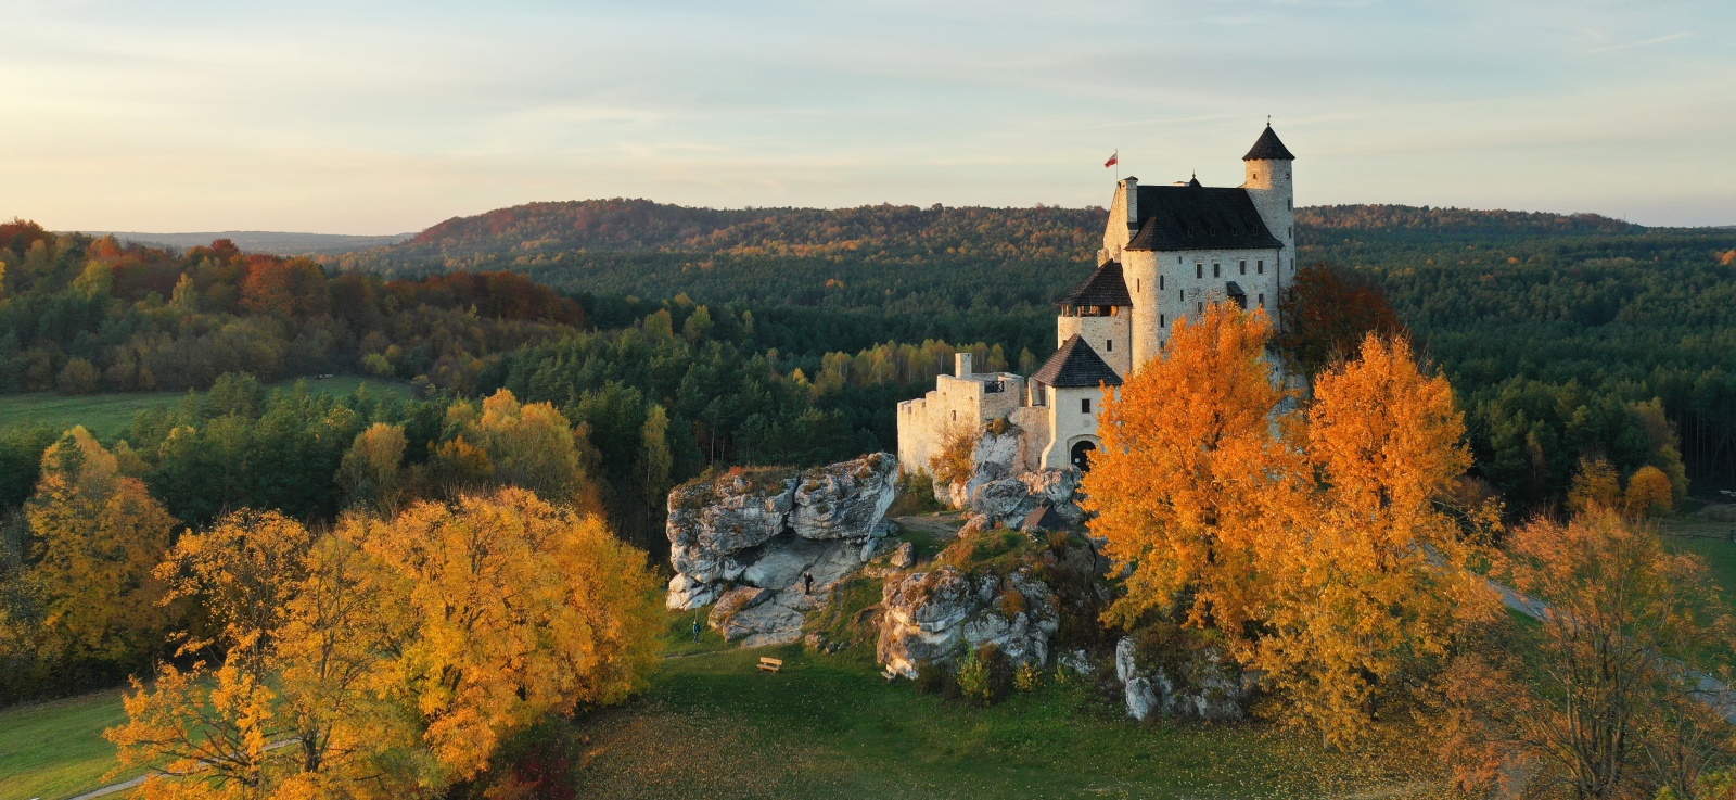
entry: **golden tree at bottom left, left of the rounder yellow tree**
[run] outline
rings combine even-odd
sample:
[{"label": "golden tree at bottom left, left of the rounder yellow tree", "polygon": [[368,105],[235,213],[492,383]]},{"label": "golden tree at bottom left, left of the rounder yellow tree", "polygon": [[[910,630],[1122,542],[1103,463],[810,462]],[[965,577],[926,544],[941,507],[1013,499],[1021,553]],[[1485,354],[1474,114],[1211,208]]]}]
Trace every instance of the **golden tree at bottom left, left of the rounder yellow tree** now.
[{"label": "golden tree at bottom left, left of the rounder yellow tree", "polygon": [[210,623],[181,646],[193,666],[134,679],[128,722],[106,732],[123,765],[161,769],[141,786],[148,800],[432,786],[417,767],[415,715],[382,670],[403,630],[365,554],[276,512],[238,512],[182,536],[160,573]]}]

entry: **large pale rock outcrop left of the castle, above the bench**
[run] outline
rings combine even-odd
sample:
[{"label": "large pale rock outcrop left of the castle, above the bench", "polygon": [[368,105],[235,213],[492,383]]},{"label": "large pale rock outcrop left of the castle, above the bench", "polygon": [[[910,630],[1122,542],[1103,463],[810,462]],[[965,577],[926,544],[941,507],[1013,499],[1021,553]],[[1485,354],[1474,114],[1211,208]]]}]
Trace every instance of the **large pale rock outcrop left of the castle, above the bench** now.
[{"label": "large pale rock outcrop left of the castle, above the bench", "polygon": [[804,613],[861,569],[887,534],[896,475],[898,460],[875,453],[811,470],[733,470],[675,488],[668,607],[715,600],[712,626],[750,646],[800,639]]}]

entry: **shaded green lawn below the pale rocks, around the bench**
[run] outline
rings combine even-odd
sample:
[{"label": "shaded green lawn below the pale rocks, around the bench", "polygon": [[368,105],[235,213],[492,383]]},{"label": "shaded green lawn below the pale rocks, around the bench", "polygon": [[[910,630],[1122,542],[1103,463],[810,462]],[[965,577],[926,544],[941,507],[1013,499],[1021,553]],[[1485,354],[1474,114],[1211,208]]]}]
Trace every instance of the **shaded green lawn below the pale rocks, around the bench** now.
[{"label": "shaded green lawn below the pale rocks, around the bench", "polygon": [[583,797],[1453,797],[1410,738],[1328,753],[1266,724],[1139,725],[1083,679],[972,708],[887,684],[871,639],[833,656],[694,646],[691,613],[672,616],[684,654],[573,724]]}]

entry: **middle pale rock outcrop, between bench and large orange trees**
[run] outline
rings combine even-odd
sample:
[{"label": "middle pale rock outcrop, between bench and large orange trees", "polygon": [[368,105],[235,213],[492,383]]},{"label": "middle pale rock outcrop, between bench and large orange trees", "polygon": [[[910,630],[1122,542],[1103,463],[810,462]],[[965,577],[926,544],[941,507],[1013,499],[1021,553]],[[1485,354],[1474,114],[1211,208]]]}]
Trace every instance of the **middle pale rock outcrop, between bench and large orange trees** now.
[{"label": "middle pale rock outcrop, between bench and large orange trees", "polygon": [[990,642],[1014,663],[1042,666],[1061,626],[1054,593],[1029,569],[1005,578],[953,566],[910,573],[885,583],[880,606],[877,656],[908,679],[918,665],[951,663]]}]

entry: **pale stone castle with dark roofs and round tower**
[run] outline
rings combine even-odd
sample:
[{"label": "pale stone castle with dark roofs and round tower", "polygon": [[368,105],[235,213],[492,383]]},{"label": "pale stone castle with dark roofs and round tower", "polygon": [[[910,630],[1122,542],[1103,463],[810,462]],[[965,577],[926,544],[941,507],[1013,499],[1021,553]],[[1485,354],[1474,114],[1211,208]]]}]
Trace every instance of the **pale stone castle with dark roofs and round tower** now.
[{"label": "pale stone castle with dark roofs and round tower", "polygon": [[1238,187],[1116,182],[1097,269],[1061,297],[1055,354],[1029,378],[977,373],[957,354],[953,375],[898,404],[898,462],[927,469],[958,430],[993,420],[1017,429],[1023,472],[1087,469],[1102,392],[1158,357],[1175,319],[1213,302],[1260,307],[1278,321],[1278,293],[1295,276],[1295,156],[1271,123],[1241,158]]}]

